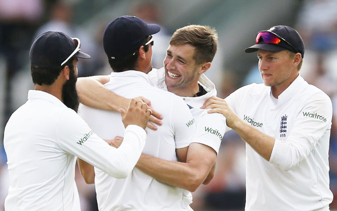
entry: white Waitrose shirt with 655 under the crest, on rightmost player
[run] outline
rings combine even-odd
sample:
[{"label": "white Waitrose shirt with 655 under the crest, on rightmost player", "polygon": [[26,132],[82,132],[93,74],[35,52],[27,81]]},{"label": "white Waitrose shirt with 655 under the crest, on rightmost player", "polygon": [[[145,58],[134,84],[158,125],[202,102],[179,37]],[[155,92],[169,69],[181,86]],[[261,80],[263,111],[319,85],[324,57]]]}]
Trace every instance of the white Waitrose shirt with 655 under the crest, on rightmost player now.
[{"label": "white Waitrose shirt with 655 under the crest, on rightmost player", "polygon": [[270,92],[254,83],[225,99],[239,118],[276,139],[270,162],[246,144],[245,210],[328,210],[331,100],[301,76],[276,105]]}]

